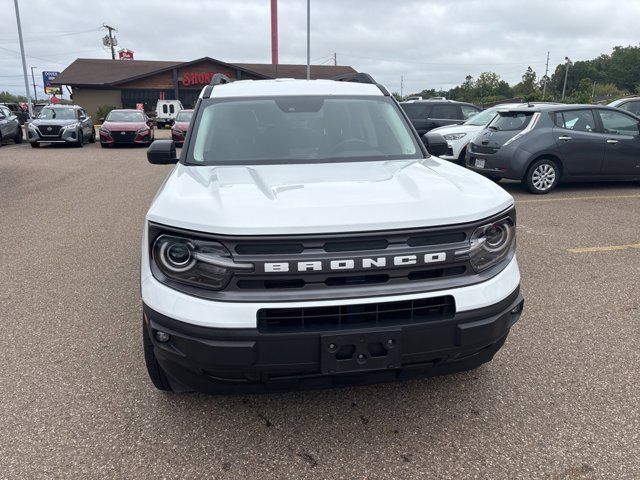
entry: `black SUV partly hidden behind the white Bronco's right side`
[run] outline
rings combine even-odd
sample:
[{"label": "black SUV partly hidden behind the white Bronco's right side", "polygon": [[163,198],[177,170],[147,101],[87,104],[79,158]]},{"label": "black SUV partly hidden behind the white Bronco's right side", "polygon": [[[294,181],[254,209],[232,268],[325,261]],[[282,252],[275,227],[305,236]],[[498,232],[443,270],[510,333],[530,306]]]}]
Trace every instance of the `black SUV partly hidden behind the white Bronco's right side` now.
[{"label": "black SUV partly hidden behind the white Bronco's right side", "polygon": [[482,111],[470,103],[452,100],[413,100],[400,106],[420,135],[436,127],[462,123]]}]

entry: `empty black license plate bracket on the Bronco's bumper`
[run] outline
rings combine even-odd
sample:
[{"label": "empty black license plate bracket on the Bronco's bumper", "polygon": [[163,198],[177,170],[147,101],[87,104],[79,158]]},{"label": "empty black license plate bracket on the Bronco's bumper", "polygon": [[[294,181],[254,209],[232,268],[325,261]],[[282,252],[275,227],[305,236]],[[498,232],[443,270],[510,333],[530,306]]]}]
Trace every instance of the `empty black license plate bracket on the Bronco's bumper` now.
[{"label": "empty black license plate bracket on the Bronco's bumper", "polygon": [[400,330],[321,335],[320,368],[324,375],[401,366]]}]

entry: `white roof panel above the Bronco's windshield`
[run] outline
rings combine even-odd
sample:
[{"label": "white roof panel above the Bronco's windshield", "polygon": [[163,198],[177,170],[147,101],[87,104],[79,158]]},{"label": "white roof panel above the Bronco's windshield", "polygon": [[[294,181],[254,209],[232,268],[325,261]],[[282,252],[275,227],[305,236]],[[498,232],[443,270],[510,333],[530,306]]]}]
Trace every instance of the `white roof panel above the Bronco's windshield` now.
[{"label": "white roof panel above the Bronco's windshield", "polygon": [[383,95],[380,87],[371,83],[335,82],[333,80],[238,80],[217,85],[211,98],[261,97],[282,95]]}]

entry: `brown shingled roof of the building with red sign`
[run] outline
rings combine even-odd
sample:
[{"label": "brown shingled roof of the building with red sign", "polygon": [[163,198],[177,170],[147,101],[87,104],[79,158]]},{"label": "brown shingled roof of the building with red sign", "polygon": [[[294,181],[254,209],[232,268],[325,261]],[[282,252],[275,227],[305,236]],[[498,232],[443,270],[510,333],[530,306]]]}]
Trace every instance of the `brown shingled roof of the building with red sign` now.
[{"label": "brown shingled roof of the building with red sign", "polygon": [[[182,68],[199,62],[211,61],[229,68],[266,78],[306,78],[306,65],[226,63],[211,57],[203,57],[190,62],[158,60],[110,60],[78,58],[58,75],[54,85],[104,86],[109,87],[156,73]],[[356,73],[352,67],[343,65],[311,65],[311,78],[331,78],[345,73]]]}]

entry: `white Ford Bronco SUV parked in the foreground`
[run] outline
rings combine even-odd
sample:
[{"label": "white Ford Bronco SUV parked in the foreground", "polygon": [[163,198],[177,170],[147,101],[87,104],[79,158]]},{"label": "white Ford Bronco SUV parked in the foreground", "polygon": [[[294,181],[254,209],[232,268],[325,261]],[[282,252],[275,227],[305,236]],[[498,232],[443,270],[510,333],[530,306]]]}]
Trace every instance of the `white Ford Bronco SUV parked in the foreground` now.
[{"label": "white Ford Bronco SUV parked in the foreground", "polygon": [[216,76],[180,159],[149,148],[177,163],[142,242],[157,388],[439,375],[503,345],[523,307],[512,197],[429,155],[384,87],[351,80]]}]

